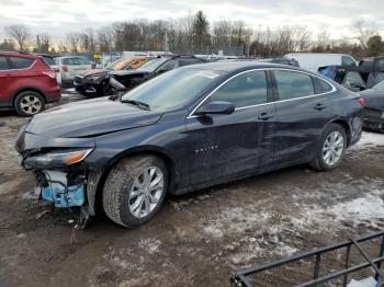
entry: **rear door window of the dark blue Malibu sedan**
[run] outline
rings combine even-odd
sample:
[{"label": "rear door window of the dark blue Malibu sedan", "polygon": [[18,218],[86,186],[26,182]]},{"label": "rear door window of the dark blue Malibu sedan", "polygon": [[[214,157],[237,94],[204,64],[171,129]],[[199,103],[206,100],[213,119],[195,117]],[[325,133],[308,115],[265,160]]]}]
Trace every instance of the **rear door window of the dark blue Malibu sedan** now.
[{"label": "rear door window of the dark blue Malibu sedan", "polygon": [[292,100],[315,94],[312,77],[294,71],[274,71],[276,79],[279,99]]}]

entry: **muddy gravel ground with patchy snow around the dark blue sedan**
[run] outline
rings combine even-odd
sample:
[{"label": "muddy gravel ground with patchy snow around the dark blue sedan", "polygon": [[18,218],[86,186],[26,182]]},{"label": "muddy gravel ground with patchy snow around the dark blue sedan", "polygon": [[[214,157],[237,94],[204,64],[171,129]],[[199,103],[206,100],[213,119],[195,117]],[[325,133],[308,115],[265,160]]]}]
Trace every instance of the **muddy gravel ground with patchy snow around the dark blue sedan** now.
[{"label": "muddy gravel ground with patchy snow around the dark blue sedan", "polygon": [[[66,92],[59,104],[78,100]],[[1,286],[228,286],[245,267],[384,229],[383,134],[364,133],[332,172],[294,167],[169,197],[138,229],[100,217],[76,231],[72,214],[29,196],[34,179],[13,149],[23,123],[0,116]],[[256,283],[290,286],[304,271]]]}]

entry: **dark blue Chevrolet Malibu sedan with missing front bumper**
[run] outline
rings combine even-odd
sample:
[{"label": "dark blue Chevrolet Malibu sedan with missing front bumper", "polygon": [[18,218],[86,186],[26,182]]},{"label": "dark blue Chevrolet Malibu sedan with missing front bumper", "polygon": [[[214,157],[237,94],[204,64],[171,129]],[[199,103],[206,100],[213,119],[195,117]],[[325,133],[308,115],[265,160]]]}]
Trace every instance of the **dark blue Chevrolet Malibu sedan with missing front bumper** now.
[{"label": "dark blue Chevrolet Malibu sedan with missing front bumper", "polygon": [[252,61],[193,65],[120,97],[52,108],[19,133],[44,200],[137,227],[167,194],[289,165],[339,165],[364,99],[319,74]]}]

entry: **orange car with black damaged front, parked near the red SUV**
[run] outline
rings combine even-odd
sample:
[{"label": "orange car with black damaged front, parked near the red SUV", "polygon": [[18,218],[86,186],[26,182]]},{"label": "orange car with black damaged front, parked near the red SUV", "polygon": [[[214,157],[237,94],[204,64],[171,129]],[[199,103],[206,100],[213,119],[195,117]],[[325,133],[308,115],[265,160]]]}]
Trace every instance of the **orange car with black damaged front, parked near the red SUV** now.
[{"label": "orange car with black damaged front, parked near the red SUV", "polygon": [[147,57],[121,58],[104,69],[92,69],[76,74],[74,78],[75,90],[86,96],[103,96],[105,84],[102,83],[109,81],[106,76],[110,71],[134,70],[148,60],[149,58]]}]

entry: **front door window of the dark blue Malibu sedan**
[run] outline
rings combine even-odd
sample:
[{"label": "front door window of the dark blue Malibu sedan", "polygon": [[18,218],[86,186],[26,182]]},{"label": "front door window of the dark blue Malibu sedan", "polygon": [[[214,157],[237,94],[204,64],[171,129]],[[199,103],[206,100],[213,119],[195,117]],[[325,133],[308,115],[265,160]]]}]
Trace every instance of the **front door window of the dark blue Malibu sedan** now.
[{"label": "front door window of the dark blue Malibu sedan", "polygon": [[250,71],[237,76],[211,95],[211,101],[229,102],[235,107],[267,103],[267,77],[264,71]]}]

